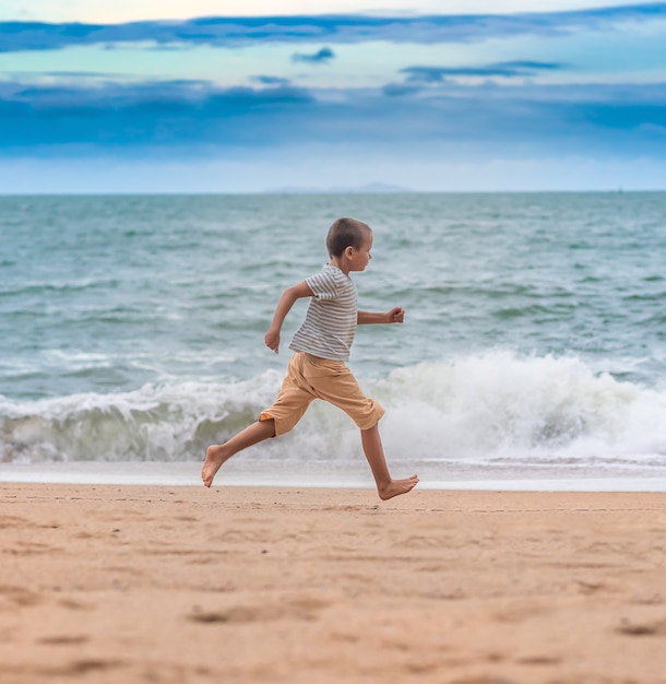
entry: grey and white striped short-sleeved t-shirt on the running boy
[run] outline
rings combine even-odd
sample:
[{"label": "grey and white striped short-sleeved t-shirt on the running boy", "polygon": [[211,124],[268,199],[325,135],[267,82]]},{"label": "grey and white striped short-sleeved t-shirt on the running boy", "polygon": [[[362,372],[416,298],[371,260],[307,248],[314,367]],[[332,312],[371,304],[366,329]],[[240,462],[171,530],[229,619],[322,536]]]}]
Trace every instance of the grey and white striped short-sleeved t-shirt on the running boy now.
[{"label": "grey and white striped short-sleeved t-shirt on the running boy", "polygon": [[320,358],[348,361],[358,315],[356,285],[330,263],[317,275],[306,278],[306,283],[314,296],[289,349]]}]

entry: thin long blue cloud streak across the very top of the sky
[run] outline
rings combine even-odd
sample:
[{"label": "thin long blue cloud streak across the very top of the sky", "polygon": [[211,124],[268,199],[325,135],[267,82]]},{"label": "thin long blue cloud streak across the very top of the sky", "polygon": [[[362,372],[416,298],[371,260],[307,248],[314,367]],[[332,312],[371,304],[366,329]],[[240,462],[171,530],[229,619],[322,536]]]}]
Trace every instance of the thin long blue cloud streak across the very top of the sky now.
[{"label": "thin long blue cloud streak across the very top of the sky", "polygon": [[0,51],[74,45],[152,43],[236,47],[258,43],[462,43],[490,37],[554,35],[666,19],[666,2],[568,12],[376,16],[362,14],[203,17],[123,24],[0,22]]}]

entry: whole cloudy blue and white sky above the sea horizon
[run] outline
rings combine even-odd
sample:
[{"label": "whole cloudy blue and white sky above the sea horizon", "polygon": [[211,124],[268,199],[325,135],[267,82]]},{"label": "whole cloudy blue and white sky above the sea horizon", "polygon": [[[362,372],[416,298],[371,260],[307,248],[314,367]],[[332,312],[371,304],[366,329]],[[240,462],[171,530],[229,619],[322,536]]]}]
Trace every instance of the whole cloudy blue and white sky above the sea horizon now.
[{"label": "whole cloudy blue and white sky above the sea horizon", "polygon": [[666,189],[666,2],[3,0],[0,193]]}]

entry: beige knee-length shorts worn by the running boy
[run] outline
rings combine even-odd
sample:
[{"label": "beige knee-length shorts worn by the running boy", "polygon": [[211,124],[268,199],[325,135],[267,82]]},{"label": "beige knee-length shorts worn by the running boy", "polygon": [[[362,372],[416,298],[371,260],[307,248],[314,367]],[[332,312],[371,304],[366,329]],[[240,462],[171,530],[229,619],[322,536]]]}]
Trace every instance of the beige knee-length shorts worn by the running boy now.
[{"label": "beige knee-length shorts worn by the running boy", "polygon": [[263,411],[259,420],[273,418],[275,435],[284,435],[300,421],[314,399],[323,399],[342,409],[360,429],[373,427],[384,414],[377,401],[362,393],[343,361],[296,352],[275,403]]}]

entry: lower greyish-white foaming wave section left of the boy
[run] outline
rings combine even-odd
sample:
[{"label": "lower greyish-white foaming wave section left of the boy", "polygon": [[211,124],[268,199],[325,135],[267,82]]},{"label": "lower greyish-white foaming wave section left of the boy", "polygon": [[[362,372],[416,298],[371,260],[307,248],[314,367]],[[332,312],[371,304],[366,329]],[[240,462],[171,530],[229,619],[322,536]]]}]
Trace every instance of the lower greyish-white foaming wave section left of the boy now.
[{"label": "lower greyish-white foaming wave section left of the boy", "polygon": [[[4,461],[187,460],[221,426],[240,427],[280,385],[267,372],[245,382],[145,385],[34,402],[0,400]],[[224,428],[223,428],[224,429]]]}]

